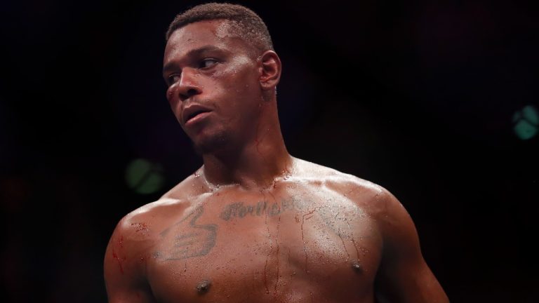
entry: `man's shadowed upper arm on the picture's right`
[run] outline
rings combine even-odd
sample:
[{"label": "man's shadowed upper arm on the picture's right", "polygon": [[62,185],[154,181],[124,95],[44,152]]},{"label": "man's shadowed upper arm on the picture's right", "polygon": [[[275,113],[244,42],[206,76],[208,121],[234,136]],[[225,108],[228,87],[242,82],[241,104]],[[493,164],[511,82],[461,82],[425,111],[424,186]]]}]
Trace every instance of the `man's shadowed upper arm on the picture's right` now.
[{"label": "man's shadowed upper arm on the picture's right", "polygon": [[441,285],[425,263],[417,231],[408,212],[382,189],[375,198],[376,220],[383,237],[383,252],[376,278],[380,302],[448,302]]}]

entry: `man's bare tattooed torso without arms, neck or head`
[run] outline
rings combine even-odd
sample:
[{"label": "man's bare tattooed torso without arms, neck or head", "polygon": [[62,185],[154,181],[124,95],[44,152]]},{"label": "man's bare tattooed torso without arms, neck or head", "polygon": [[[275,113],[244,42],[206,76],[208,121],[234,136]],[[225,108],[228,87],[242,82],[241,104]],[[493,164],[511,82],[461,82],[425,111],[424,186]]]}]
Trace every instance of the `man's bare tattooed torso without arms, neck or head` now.
[{"label": "man's bare tattooed torso without arms, neck or head", "polygon": [[[373,302],[382,238],[368,211],[372,184],[331,172],[262,190],[207,191],[192,176],[134,212],[129,222],[154,297]],[[365,191],[364,201],[352,201],[352,191]]]}]

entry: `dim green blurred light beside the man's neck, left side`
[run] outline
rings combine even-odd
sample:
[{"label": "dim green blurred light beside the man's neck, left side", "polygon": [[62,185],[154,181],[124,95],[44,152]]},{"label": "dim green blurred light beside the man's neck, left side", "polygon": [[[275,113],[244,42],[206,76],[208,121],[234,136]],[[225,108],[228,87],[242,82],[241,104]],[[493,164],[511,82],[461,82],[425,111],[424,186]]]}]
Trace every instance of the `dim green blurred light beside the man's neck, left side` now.
[{"label": "dim green blurred light beside the man's neck, left side", "polygon": [[153,194],[165,182],[163,169],[159,164],[145,159],[135,159],[126,168],[127,186],[138,194]]}]

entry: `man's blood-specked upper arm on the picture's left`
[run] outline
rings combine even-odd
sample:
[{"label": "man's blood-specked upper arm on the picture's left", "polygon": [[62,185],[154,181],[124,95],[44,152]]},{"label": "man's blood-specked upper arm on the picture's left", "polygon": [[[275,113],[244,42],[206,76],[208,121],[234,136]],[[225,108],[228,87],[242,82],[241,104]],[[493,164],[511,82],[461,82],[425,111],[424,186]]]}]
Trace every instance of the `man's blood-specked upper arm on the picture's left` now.
[{"label": "man's blood-specked upper arm on the picture's left", "polygon": [[154,298],[142,267],[144,257],[133,241],[133,232],[126,218],[112,234],[105,253],[104,271],[107,297],[111,303],[150,303]]}]

